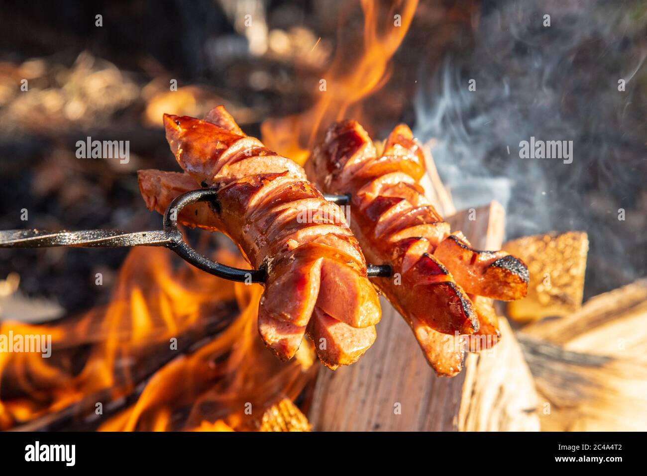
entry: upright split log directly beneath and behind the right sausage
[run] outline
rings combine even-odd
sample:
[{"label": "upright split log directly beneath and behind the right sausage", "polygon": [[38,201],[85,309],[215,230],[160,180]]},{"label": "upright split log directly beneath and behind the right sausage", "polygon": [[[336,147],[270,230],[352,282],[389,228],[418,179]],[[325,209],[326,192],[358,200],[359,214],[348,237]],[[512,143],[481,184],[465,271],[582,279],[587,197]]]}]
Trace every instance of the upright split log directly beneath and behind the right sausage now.
[{"label": "upright split log directly beneath and behind the right sausage", "polygon": [[[448,218],[479,249],[499,249],[504,220],[496,202]],[[381,305],[377,341],[359,362],[320,369],[309,404],[315,430],[538,429],[532,377],[505,322],[490,358],[470,355],[463,373],[440,378],[404,319],[386,299]]]}]

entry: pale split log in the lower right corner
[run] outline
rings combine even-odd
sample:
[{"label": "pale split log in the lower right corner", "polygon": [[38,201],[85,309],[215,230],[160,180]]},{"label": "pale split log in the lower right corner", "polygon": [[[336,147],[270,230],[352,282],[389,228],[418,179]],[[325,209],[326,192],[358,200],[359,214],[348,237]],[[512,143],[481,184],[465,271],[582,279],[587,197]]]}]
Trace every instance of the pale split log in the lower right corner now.
[{"label": "pale split log in the lower right corner", "polygon": [[544,431],[644,431],[647,279],[589,299],[575,314],[523,327],[519,338]]}]

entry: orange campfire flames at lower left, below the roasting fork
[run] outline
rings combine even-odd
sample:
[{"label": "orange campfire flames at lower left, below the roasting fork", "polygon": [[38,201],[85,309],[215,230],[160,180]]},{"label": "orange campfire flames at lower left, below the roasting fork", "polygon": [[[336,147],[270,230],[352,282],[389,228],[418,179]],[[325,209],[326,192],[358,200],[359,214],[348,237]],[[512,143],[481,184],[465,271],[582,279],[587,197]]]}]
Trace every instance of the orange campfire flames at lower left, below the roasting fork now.
[{"label": "orange campfire flames at lower left, below the roasting fork", "polygon": [[[253,427],[254,417],[262,415],[265,406],[298,395],[308,373],[298,362],[278,362],[259,345],[256,310],[261,287],[234,284],[188,265],[174,270],[171,256],[161,248],[133,250],[109,305],[80,319],[54,325],[2,323],[4,335],[10,330],[21,335],[50,334],[52,358],[0,353],[0,392],[4,391],[0,429],[66,408],[93,413],[97,403],[131,395],[145,377],[144,369],[151,373],[159,367],[155,362],[147,367],[151,358],[160,360],[160,365],[170,362],[150,378],[133,407],[105,422],[105,429],[171,429],[173,411],[181,406],[190,416],[181,428],[236,413],[243,415],[239,426]],[[221,252],[217,259],[245,266],[229,253]],[[226,308],[233,310],[234,303],[241,314],[224,332],[199,350],[178,355],[171,345],[173,338],[208,337],[204,334],[207,321],[223,316]],[[75,371],[72,360],[80,358],[77,352],[84,345],[92,346],[91,354]],[[218,389],[215,398],[208,395],[212,388]],[[207,401],[208,411],[196,403]],[[245,414],[246,402],[256,407],[250,415]]]}]

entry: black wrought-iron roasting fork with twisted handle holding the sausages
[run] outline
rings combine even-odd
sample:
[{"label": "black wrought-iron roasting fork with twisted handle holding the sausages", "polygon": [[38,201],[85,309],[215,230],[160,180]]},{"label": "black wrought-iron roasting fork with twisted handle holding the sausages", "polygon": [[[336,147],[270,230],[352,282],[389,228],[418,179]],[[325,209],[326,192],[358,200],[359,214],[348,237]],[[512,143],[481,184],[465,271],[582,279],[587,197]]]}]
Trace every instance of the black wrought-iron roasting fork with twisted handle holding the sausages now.
[{"label": "black wrought-iron roasting fork with twisted handle holding the sausages", "polygon": [[[244,270],[221,265],[199,254],[189,246],[177,228],[177,217],[187,205],[197,202],[214,201],[217,190],[204,188],[188,191],[176,197],[164,212],[163,230],[150,232],[122,232],[119,230],[82,230],[78,232],[48,232],[45,230],[5,230],[0,231],[0,248],[50,248],[72,246],[76,248],[120,248],[122,246],[164,246],[180,255],[184,261],[214,276],[230,281],[263,283],[265,269]],[[349,202],[347,195],[324,195],[326,200],[338,205]],[[175,211],[175,213],[173,213]],[[368,277],[391,276],[389,265],[367,265]]]}]

